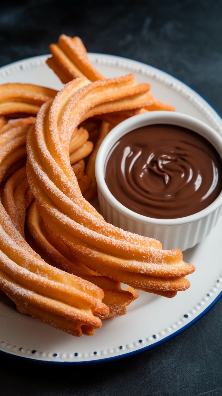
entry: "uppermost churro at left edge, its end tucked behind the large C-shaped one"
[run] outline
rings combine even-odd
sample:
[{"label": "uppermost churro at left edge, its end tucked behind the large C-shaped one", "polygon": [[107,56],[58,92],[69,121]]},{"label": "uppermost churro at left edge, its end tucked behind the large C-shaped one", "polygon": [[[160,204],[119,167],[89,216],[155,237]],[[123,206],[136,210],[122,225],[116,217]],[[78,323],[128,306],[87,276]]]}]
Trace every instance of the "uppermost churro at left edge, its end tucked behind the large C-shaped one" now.
[{"label": "uppermost churro at left edge, its end tucked behind the large C-shaped one", "polygon": [[33,84],[2,84],[0,85],[0,116],[13,118],[19,114],[36,115],[43,103],[53,99],[55,89],[40,87]]}]

